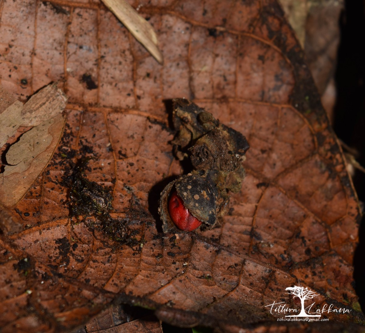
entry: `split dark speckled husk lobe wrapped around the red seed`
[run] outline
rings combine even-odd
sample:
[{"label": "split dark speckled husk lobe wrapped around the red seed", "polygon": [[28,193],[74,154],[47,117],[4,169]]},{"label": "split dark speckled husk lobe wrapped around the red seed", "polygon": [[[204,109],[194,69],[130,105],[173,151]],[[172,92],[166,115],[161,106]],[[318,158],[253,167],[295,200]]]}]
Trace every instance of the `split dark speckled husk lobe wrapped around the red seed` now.
[{"label": "split dark speckled husk lobe wrapped around the red seed", "polygon": [[217,195],[211,184],[200,175],[184,175],[169,183],[161,193],[159,213],[163,222],[164,232],[175,230],[173,217],[169,212],[171,195],[176,191],[190,214],[207,226],[216,222]]}]

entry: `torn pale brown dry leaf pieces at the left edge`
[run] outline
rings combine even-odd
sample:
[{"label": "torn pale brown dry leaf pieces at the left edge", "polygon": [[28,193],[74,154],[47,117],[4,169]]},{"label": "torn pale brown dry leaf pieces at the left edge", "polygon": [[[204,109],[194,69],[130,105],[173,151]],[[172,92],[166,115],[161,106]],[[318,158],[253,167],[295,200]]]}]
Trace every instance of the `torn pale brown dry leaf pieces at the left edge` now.
[{"label": "torn pale brown dry leaf pieces at the left edge", "polygon": [[33,126],[3,153],[6,163],[0,173],[0,203],[13,207],[53,155],[65,125],[62,111],[67,98],[56,84],[40,90],[24,106],[3,89],[0,94],[1,147],[20,126]]}]

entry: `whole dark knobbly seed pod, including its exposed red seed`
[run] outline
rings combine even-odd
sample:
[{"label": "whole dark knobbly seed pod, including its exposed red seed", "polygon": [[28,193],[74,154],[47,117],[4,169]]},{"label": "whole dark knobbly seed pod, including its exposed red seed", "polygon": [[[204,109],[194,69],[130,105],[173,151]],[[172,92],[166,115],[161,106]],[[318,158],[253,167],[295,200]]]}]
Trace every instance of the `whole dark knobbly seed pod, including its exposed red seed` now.
[{"label": "whole dark knobbly seed pod, including its exposed red seed", "polygon": [[172,143],[178,159],[189,158],[191,173],[170,182],[161,193],[159,213],[164,232],[214,226],[226,213],[229,195],[245,177],[246,138],[187,99],[173,100]]}]

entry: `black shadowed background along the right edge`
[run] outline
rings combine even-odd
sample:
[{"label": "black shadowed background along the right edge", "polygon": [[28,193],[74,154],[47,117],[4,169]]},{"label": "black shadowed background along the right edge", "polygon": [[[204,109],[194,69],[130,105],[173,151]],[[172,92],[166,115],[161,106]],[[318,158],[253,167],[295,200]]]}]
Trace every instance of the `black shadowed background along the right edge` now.
[{"label": "black shadowed background along the right edge", "polygon": [[[346,0],[340,17],[341,40],[335,81],[337,100],[334,130],[348,146],[357,150],[357,161],[365,166],[365,1]],[[358,197],[365,202],[365,174],[356,170],[353,177]],[[364,211],[364,209],[363,209]],[[365,312],[365,219],[359,221],[360,242],[354,258],[355,289]]]}]

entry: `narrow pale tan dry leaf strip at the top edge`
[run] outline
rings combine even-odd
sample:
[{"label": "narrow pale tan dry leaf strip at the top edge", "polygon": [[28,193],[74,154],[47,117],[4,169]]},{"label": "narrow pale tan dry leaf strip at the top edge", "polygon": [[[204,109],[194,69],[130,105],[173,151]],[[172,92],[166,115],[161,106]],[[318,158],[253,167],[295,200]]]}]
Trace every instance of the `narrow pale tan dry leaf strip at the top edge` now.
[{"label": "narrow pale tan dry leaf strip at the top edge", "polygon": [[154,58],[162,64],[162,53],[158,49],[157,35],[151,26],[137,11],[124,0],[102,0],[105,6],[126,26]]}]

